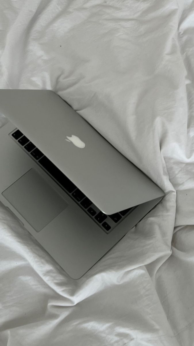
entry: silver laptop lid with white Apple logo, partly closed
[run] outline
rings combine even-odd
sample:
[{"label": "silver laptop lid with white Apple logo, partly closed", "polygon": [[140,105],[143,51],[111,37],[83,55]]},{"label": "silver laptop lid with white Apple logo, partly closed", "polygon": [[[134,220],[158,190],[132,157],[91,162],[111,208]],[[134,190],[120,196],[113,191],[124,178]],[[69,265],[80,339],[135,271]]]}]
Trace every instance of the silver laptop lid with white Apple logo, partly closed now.
[{"label": "silver laptop lid with white Apple logo, partly closed", "polygon": [[0,90],[0,112],[104,213],[163,191],[50,90]]}]

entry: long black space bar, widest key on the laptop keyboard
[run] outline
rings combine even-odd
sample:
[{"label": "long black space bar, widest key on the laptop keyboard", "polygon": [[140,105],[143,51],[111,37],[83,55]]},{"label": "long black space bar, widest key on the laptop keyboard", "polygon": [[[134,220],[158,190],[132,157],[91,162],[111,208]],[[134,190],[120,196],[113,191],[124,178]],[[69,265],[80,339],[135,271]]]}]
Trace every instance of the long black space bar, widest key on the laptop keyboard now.
[{"label": "long black space bar, widest key on the laptop keyboard", "polygon": [[46,156],[43,156],[38,162],[52,175],[69,193],[76,189],[76,185],[68,179]]}]

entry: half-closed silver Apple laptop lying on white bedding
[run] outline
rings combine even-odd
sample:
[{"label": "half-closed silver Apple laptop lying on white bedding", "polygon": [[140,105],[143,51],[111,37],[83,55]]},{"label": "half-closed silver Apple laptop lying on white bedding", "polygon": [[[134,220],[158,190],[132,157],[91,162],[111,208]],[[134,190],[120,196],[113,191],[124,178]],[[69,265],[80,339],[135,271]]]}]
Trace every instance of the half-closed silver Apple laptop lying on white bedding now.
[{"label": "half-closed silver Apple laptop lying on white bedding", "polygon": [[0,90],[0,201],[73,279],[164,192],[50,90]]}]

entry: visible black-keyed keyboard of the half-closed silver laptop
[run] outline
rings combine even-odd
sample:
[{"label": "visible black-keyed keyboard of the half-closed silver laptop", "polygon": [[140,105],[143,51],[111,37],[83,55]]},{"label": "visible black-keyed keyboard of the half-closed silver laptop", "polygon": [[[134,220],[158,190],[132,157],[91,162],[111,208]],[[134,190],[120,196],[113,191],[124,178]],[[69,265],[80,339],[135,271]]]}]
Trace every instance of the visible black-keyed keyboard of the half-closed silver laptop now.
[{"label": "visible black-keyed keyboard of the half-closed silver laptop", "polygon": [[20,130],[15,129],[10,135],[107,234],[136,208],[128,208],[112,215],[104,214]]}]

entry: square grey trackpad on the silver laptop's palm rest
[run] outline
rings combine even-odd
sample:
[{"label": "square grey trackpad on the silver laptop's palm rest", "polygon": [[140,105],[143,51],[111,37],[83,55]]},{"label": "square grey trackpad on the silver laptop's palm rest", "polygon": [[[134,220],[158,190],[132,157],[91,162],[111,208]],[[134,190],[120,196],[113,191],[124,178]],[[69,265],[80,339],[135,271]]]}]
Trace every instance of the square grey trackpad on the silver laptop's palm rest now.
[{"label": "square grey trackpad on the silver laptop's palm rest", "polygon": [[2,195],[37,232],[68,206],[34,169],[22,175]]}]

